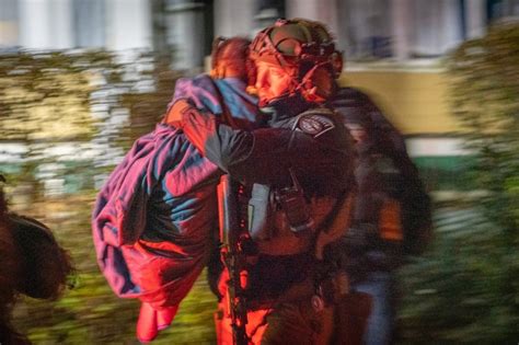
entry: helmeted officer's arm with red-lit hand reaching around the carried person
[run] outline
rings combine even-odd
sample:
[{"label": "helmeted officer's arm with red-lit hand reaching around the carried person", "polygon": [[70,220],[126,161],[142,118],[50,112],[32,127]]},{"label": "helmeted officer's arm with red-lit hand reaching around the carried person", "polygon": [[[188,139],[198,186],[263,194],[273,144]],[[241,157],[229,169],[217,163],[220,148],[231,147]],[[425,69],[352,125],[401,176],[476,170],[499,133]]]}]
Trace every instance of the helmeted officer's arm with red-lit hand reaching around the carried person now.
[{"label": "helmeted officer's arm with red-lit hand reaching around the carried person", "polygon": [[[181,106],[178,106],[181,108]],[[325,136],[341,130],[330,122],[330,133],[309,135],[289,128],[237,130],[218,118],[200,114],[193,107],[183,108],[177,123],[186,137],[211,162],[238,180],[250,183],[286,184],[289,168],[320,179],[345,174],[349,165],[347,148],[330,145]],[[327,131],[327,130],[326,130]],[[335,177],[336,179],[336,177]]]}]

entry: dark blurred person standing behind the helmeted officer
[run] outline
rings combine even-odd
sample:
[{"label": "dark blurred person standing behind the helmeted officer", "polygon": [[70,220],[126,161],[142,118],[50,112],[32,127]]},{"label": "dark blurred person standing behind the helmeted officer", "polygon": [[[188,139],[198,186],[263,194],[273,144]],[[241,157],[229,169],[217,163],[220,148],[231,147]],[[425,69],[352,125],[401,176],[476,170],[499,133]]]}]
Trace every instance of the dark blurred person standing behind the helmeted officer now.
[{"label": "dark blurred person standing behind the helmeted officer", "polygon": [[351,289],[368,294],[372,300],[364,343],[391,344],[395,271],[405,262],[405,255],[417,254],[427,244],[430,200],[402,135],[367,94],[343,88],[331,104],[343,115],[356,142],[358,189],[345,250]]}]

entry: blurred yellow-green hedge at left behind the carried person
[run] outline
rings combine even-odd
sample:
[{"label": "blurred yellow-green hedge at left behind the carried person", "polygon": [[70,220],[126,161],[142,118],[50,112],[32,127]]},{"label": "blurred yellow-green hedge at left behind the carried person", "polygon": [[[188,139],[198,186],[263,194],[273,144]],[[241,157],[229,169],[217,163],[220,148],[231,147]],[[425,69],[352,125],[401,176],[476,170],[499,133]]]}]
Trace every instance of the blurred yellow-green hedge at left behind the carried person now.
[{"label": "blurred yellow-green hedge at left behind the carried person", "polygon": [[[138,303],[109,290],[90,230],[99,187],[164,114],[181,72],[150,51],[0,55],[0,172],[11,208],[47,223],[70,251],[76,287],[56,302],[22,299],[14,324],[35,344],[131,344]],[[210,344],[205,278],[158,344]],[[196,330],[196,332],[193,332]]]}]

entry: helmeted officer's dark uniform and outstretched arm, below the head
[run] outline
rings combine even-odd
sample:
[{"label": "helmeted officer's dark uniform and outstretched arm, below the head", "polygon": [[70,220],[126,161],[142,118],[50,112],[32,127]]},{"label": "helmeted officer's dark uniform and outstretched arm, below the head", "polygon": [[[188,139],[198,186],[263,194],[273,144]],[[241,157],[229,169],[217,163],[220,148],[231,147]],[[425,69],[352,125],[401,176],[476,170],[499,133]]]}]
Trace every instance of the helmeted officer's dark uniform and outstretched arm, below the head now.
[{"label": "helmeted officer's dark uniform and outstretched arm, below the head", "polygon": [[[291,231],[279,204],[273,205],[273,195],[293,184],[292,173],[311,202],[308,205],[314,230],[332,218],[330,215],[341,205],[337,200],[354,187],[353,145],[341,116],[324,107],[277,108],[268,122],[270,128],[245,131],[219,124],[211,115],[192,112],[184,114],[182,125],[186,137],[204,156],[246,186],[254,185],[252,199],[268,204],[270,209],[261,214],[254,208],[249,215],[250,229],[264,221],[268,232],[251,231],[258,254],[249,268],[246,301],[249,310],[264,312],[264,320],[258,320],[257,313],[249,314],[250,336],[254,338],[261,333],[256,331],[266,326],[261,336],[265,344],[326,337],[330,333],[324,330],[333,326],[333,312],[326,309],[323,314],[310,307],[318,281],[314,237]],[[269,192],[255,195],[265,188]],[[226,281],[223,275],[220,287]],[[302,294],[293,296],[292,291]],[[289,302],[280,302],[287,299]]]}]

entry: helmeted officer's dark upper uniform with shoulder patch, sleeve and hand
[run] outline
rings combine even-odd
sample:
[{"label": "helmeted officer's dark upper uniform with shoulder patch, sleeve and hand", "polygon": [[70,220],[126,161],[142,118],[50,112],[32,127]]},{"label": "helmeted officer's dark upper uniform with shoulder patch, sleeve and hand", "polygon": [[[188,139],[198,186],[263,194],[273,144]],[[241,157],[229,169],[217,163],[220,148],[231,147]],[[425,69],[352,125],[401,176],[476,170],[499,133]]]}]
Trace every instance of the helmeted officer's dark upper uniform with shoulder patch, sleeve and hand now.
[{"label": "helmeted officer's dark upper uniform with shoulder patch, sleeve and hand", "polygon": [[336,196],[351,187],[353,149],[343,119],[319,107],[275,111],[268,126],[232,129],[218,118],[191,112],[186,136],[215,164],[245,184],[290,184],[291,169],[308,196]]}]

